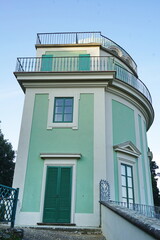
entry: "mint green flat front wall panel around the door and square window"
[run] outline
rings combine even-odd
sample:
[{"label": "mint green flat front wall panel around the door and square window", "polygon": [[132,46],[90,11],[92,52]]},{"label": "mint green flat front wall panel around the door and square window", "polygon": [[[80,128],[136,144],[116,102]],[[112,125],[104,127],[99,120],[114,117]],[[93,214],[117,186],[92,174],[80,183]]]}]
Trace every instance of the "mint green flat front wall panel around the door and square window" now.
[{"label": "mint green flat front wall panel around the door and square window", "polygon": [[93,104],[93,94],[81,94],[78,130],[46,130],[48,95],[36,95],[22,211],[40,211],[44,161],[39,155],[46,152],[82,154],[77,161],[76,212],[93,212]]}]

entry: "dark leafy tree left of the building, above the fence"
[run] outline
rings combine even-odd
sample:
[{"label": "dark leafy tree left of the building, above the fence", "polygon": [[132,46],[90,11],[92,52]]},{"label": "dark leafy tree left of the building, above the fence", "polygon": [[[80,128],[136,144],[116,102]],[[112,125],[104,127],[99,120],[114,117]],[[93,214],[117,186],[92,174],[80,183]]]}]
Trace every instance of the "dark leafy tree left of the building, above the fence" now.
[{"label": "dark leafy tree left of the building, above the fence", "polygon": [[0,184],[11,187],[14,173],[15,152],[0,130]]}]

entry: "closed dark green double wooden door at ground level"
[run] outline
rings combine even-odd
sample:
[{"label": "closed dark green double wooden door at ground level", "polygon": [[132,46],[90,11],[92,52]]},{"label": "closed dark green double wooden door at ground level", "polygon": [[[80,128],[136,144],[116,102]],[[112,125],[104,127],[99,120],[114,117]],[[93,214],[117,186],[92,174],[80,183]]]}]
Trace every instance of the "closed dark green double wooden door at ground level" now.
[{"label": "closed dark green double wooden door at ground level", "polygon": [[71,167],[48,167],[43,222],[70,223]]}]

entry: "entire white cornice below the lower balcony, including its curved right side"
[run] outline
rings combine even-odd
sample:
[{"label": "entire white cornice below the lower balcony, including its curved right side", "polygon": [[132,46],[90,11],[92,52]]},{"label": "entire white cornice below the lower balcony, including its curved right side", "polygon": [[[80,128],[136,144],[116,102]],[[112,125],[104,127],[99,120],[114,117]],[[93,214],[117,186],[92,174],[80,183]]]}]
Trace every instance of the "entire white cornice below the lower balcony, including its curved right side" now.
[{"label": "entire white cornice below the lower balcony, including its curved right side", "polygon": [[147,130],[154,119],[154,110],[147,98],[137,89],[115,78],[108,72],[15,72],[19,84],[26,88],[99,88],[119,95],[133,103],[143,113]]}]

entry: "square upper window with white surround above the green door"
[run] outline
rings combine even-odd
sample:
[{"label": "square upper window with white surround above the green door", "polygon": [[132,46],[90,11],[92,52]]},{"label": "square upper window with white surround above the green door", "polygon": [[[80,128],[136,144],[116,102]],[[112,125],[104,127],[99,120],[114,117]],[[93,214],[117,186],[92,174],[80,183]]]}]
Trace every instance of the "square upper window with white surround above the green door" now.
[{"label": "square upper window with white surround above the green door", "polygon": [[78,129],[80,93],[73,89],[56,89],[49,93],[47,129]]}]

